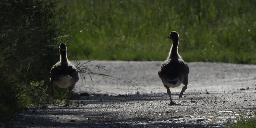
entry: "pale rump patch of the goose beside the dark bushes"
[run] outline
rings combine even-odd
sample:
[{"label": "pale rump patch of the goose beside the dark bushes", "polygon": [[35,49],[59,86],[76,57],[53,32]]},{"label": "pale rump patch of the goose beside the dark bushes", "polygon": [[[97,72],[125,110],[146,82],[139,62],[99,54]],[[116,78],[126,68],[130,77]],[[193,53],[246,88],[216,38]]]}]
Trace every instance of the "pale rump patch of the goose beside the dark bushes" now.
[{"label": "pale rump patch of the goose beside the dark bushes", "polygon": [[61,76],[59,80],[55,80],[54,83],[60,88],[68,88],[71,86],[71,76]]}]

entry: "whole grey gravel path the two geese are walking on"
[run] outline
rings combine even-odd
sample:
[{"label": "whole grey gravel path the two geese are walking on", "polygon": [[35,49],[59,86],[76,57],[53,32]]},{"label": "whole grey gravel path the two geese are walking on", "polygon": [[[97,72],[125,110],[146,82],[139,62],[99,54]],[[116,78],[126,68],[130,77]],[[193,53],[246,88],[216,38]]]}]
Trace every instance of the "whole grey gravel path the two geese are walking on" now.
[{"label": "whole grey gravel path the two geese are walking on", "polygon": [[105,65],[106,71],[94,71],[126,83],[92,76],[93,82],[88,78],[84,86],[79,81],[75,90],[90,95],[71,100],[70,107],[28,108],[0,127],[224,127],[234,124],[237,117],[256,116],[255,65],[188,63],[188,89],[178,99],[183,85],[171,88],[173,101],[180,105],[169,106],[157,74],[161,62],[91,64]]}]

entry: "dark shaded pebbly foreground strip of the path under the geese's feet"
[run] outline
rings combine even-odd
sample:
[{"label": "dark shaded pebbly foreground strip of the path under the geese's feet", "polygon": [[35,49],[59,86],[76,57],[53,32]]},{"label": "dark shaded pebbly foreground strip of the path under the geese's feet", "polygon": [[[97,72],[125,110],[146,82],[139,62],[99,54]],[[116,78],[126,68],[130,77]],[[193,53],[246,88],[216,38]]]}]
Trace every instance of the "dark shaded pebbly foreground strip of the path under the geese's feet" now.
[{"label": "dark shaded pebbly foreground strip of the path under the geese's feet", "polygon": [[[255,115],[255,92],[185,93],[169,106],[165,93],[81,96],[70,107],[28,108],[2,127],[223,127]],[[246,100],[244,100],[246,99]],[[0,125],[0,126],[1,126]]]}]

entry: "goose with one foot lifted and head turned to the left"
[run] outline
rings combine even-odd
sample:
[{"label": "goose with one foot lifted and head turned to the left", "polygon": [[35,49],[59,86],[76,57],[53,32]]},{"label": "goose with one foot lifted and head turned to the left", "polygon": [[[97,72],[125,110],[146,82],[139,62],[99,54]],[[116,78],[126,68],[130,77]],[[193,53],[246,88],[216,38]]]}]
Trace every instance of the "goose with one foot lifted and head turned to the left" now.
[{"label": "goose with one foot lifted and head turned to the left", "polygon": [[167,60],[164,61],[159,69],[158,75],[170,97],[171,101],[169,105],[178,105],[172,101],[171,91],[169,88],[178,87],[181,83],[184,84],[185,86],[182,88],[179,98],[182,97],[183,92],[187,89],[188,85],[189,68],[188,64],[184,62],[178,54],[179,34],[173,31],[167,38],[172,39],[172,47]]}]

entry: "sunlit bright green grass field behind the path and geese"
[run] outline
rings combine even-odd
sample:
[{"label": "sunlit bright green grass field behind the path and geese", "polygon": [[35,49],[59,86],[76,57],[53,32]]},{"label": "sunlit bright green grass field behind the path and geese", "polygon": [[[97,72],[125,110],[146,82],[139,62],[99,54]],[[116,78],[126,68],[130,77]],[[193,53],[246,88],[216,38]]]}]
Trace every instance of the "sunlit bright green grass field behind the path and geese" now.
[{"label": "sunlit bright green grass field behind the path and geese", "polygon": [[[185,61],[256,63],[254,0],[63,0],[75,32],[68,48],[79,59],[165,60],[171,47],[166,37],[180,35]],[[97,15],[97,18],[92,12]],[[86,44],[86,45],[85,45]],[[85,50],[83,50],[84,48]]]}]

